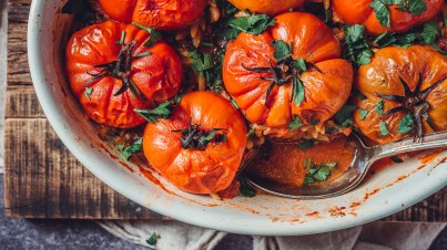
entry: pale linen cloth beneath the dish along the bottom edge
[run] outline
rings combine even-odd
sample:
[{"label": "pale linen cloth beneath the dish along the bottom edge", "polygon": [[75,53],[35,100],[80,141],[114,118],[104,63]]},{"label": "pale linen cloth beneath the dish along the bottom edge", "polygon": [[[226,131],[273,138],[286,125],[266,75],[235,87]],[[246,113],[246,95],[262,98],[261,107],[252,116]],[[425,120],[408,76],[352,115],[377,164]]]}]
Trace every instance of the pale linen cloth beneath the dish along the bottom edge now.
[{"label": "pale linen cloth beneath the dish along the bottom edge", "polygon": [[[212,250],[227,235],[179,221],[96,221],[112,235],[133,243],[161,236],[156,249]],[[296,237],[253,236],[254,250],[421,250],[428,249],[447,223],[376,221],[334,232]],[[149,247],[149,246],[148,246]]]}]

